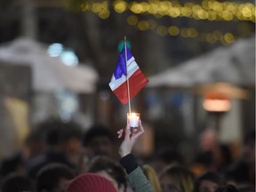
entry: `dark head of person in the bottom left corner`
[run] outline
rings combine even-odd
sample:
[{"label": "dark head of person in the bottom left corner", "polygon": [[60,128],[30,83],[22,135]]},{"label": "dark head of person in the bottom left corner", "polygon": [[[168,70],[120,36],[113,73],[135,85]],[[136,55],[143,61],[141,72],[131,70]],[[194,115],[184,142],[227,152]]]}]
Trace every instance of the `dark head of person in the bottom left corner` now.
[{"label": "dark head of person in the bottom left corner", "polygon": [[11,173],[4,178],[1,184],[1,192],[36,192],[33,182],[23,175]]}]

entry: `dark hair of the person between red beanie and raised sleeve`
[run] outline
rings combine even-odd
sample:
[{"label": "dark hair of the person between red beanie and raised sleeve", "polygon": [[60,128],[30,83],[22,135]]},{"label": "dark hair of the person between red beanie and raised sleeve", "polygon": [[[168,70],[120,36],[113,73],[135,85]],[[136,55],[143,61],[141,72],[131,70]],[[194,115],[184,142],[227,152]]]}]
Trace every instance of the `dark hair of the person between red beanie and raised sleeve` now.
[{"label": "dark hair of the person between red beanie and raised sleeve", "polygon": [[108,156],[96,156],[92,159],[87,172],[100,172],[105,171],[116,180],[118,188],[124,185],[127,187],[127,182],[125,179],[126,173],[121,164],[117,164],[114,160],[110,159]]}]

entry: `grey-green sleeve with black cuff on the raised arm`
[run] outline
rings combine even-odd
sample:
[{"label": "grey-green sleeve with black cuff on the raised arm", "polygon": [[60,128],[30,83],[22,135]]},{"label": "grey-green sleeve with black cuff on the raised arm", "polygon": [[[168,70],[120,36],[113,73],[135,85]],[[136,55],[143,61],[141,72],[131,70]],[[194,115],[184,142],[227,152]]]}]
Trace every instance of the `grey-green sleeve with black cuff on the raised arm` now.
[{"label": "grey-green sleeve with black cuff on the raised arm", "polygon": [[120,163],[127,172],[127,180],[134,192],[154,192],[148,178],[136,162],[135,156],[132,154],[124,156],[121,158]]}]

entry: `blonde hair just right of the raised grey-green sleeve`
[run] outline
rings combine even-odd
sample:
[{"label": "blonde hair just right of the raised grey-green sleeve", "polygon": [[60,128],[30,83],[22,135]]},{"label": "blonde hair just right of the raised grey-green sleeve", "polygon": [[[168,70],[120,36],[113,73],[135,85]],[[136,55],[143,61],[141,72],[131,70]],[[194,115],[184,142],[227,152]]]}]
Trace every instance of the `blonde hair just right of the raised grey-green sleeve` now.
[{"label": "blonde hair just right of the raised grey-green sleeve", "polygon": [[155,192],[162,192],[162,188],[161,188],[161,185],[160,185],[160,182],[158,180],[158,176],[157,176],[155,170],[148,164],[144,164],[142,166],[142,168],[143,168],[144,174],[146,175],[150,184],[154,188],[154,191]]}]

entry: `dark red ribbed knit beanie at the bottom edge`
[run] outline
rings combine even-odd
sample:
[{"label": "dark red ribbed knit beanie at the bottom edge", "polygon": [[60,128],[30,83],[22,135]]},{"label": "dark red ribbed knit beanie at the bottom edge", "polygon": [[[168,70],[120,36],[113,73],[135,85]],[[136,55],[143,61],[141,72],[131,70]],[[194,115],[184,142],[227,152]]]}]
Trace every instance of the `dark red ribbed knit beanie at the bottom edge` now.
[{"label": "dark red ribbed knit beanie at the bottom edge", "polygon": [[66,192],[116,192],[114,185],[97,173],[83,173],[68,185]]}]

